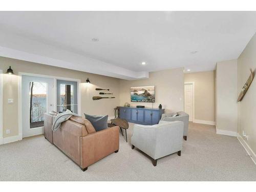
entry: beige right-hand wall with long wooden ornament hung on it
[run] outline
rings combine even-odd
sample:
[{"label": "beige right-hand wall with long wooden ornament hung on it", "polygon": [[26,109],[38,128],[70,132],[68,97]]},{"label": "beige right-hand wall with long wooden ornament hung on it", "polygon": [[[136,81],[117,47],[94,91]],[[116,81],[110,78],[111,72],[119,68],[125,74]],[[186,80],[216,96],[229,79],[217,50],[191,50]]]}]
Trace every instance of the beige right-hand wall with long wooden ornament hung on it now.
[{"label": "beige right-hand wall with long wooden ornament hung on it", "polygon": [[[250,75],[250,69],[256,69],[256,34],[249,41],[248,45],[238,58],[238,94]],[[243,131],[248,135],[244,140],[251,150],[256,154],[256,79],[251,83],[250,88],[243,100],[238,103],[238,131],[242,136]],[[251,154],[252,155],[252,154]],[[255,157],[254,157],[255,158]]]}]

